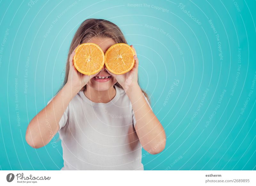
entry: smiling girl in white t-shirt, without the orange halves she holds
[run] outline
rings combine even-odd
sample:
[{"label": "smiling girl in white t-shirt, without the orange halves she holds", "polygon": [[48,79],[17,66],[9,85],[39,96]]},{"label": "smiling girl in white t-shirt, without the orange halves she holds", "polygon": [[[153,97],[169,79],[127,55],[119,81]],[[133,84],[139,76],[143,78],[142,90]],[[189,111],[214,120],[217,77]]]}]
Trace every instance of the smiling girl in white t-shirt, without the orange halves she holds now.
[{"label": "smiling girl in white t-shirt, without the orange halves she holds", "polygon": [[61,170],[143,170],[141,147],[160,153],[166,137],[138,84],[137,55],[133,69],[125,74],[112,74],[104,66],[88,76],[73,63],[76,47],[85,42],[99,45],[104,53],[116,43],[127,43],[114,23],[85,20],[70,45],[64,86],[31,120],[26,141],[40,148],[59,132]]}]

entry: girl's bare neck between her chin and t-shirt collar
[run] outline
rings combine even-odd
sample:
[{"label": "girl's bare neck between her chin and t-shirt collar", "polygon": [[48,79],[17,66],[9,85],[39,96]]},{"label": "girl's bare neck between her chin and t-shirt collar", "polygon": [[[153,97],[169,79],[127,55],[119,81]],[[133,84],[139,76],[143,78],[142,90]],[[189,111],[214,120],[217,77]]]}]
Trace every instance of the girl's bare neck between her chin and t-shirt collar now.
[{"label": "girl's bare neck between her chin and t-shirt collar", "polygon": [[116,89],[114,86],[110,87],[105,91],[98,91],[89,86],[84,90],[84,95],[95,103],[108,103],[111,101],[116,95]]}]

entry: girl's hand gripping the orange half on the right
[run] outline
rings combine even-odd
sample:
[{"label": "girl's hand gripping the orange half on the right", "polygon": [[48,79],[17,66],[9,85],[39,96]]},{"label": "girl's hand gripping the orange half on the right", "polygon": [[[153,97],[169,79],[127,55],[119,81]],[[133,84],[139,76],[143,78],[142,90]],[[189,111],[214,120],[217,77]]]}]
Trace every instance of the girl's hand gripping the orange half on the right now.
[{"label": "girl's hand gripping the orange half on the right", "polygon": [[120,75],[116,75],[111,73],[110,71],[108,71],[108,69],[106,68],[106,70],[108,71],[108,73],[113,76],[114,78],[116,78],[117,82],[124,88],[124,91],[127,92],[127,90],[134,86],[134,85],[138,85],[138,67],[139,67],[139,60],[137,58],[137,53],[135,48],[131,45],[132,49],[134,50],[135,55],[133,56],[133,58],[135,59],[135,63],[134,66],[132,68],[132,70],[130,70],[129,72],[125,73],[125,74],[120,74]]}]

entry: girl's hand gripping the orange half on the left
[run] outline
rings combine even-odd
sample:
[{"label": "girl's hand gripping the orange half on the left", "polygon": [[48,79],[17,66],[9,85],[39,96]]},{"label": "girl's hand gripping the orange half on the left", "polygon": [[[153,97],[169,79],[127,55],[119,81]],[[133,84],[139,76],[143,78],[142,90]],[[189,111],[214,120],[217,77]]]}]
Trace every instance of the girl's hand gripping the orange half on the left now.
[{"label": "girl's hand gripping the orange half on the left", "polygon": [[[76,48],[75,48],[76,50]],[[72,52],[72,54],[69,56],[69,72],[68,72],[68,81],[67,83],[70,83],[70,85],[77,91],[80,91],[89,81],[91,78],[97,75],[85,75],[80,73],[76,70],[76,67],[74,66],[73,57],[75,55],[75,50]]]}]

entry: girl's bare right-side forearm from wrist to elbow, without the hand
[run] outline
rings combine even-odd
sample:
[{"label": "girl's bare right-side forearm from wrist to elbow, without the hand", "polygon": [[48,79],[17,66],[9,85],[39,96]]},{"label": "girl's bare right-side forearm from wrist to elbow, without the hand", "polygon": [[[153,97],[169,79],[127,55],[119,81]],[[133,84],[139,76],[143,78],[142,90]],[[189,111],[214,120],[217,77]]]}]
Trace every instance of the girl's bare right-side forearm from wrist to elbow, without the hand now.
[{"label": "girl's bare right-side forearm from wrist to elbow, without the hand", "polygon": [[135,130],[143,148],[156,154],[165,147],[164,128],[145,100],[139,85],[132,86],[127,95],[136,119]]}]

